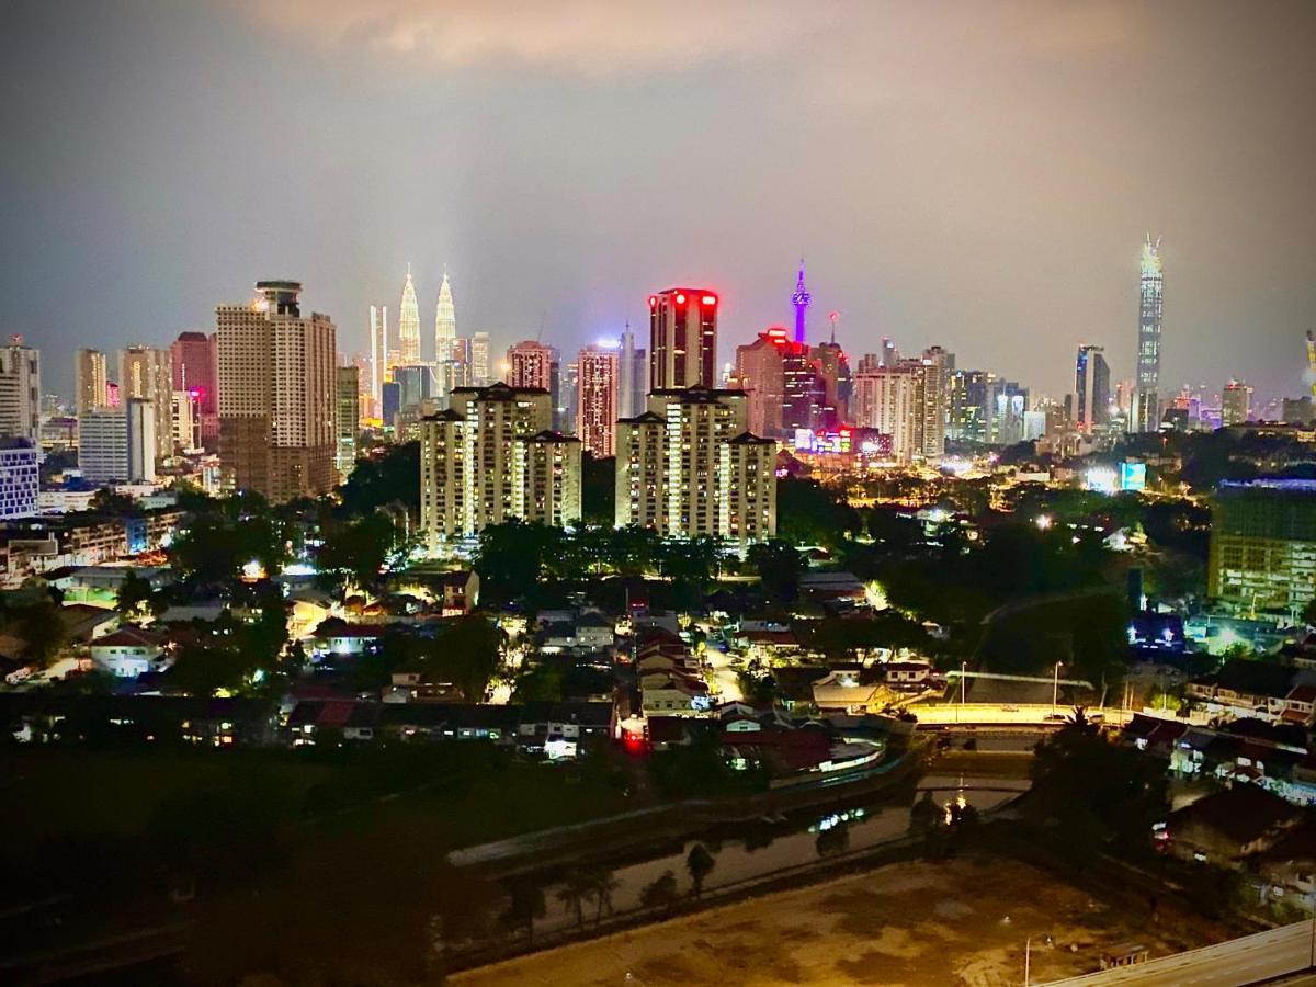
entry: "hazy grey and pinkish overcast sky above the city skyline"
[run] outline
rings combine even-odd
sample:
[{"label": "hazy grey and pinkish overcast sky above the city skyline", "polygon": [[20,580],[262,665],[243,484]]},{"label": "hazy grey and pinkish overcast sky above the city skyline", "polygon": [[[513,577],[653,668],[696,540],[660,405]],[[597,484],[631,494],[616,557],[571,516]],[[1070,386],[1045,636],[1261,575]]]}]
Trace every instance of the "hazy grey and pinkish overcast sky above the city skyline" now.
[{"label": "hazy grey and pinkish overcast sky above the city skyline", "polygon": [[941,343],[1034,393],[1132,376],[1163,237],[1162,391],[1302,387],[1316,4],[274,0],[0,5],[0,332],[46,354],[212,328],[304,282],[345,353],[416,272],[458,332],[572,350],[678,283],[722,359],[790,318]]}]

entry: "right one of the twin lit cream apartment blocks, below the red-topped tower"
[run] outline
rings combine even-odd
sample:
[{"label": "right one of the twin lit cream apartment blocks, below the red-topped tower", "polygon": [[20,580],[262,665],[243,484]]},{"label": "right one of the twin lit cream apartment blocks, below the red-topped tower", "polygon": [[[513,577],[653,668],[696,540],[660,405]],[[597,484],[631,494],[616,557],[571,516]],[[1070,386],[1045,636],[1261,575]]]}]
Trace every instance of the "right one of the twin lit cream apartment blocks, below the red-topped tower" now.
[{"label": "right one of the twin lit cream apartment blocks, below the red-topped tower", "polygon": [[[617,424],[616,525],[726,538],[742,549],[770,537],[776,445],[746,433],[746,411],[744,391],[650,393],[644,415]],[[733,440],[737,447],[724,454]]]}]

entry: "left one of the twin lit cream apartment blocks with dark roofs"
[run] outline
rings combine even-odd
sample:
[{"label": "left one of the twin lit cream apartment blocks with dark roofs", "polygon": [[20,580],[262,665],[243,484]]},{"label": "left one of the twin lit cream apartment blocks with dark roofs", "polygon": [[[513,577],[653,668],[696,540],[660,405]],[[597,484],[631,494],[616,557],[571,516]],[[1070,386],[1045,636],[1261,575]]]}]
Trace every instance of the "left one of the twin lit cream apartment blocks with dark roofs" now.
[{"label": "left one of the twin lit cream apartment blocks with dark roofs", "polygon": [[[580,446],[549,430],[549,392],[462,387],[420,422],[421,529],[432,550],[515,517],[580,517]],[[547,434],[545,434],[547,433]]]}]

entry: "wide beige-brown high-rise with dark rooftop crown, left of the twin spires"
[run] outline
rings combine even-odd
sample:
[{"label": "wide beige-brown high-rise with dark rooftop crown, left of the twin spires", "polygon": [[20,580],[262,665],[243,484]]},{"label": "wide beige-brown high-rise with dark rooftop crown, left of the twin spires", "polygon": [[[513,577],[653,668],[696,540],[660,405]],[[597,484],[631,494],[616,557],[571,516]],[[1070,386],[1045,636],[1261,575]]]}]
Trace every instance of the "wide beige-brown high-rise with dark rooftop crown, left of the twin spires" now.
[{"label": "wide beige-brown high-rise with dark rooftop crown, left of the twin spires", "polygon": [[216,309],[220,461],[234,487],[278,503],[333,488],[337,330],[303,316],[299,282],[258,282]]}]

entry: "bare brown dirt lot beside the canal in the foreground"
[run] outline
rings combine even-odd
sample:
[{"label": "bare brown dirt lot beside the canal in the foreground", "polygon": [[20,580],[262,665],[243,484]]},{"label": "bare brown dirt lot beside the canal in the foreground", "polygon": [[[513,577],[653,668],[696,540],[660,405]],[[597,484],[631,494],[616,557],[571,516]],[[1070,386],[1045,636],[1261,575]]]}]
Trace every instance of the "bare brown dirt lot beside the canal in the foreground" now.
[{"label": "bare brown dirt lot beside the canal in the foreground", "polygon": [[1017,987],[1028,937],[1030,982],[1046,983],[1096,970],[1100,949],[1112,944],[1136,941],[1158,957],[1229,933],[1167,904],[1154,919],[1150,901],[1128,911],[1109,907],[1015,861],[911,862],[563,946],[451,982]]}]

